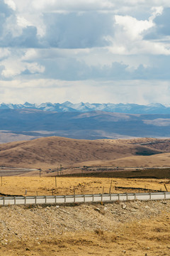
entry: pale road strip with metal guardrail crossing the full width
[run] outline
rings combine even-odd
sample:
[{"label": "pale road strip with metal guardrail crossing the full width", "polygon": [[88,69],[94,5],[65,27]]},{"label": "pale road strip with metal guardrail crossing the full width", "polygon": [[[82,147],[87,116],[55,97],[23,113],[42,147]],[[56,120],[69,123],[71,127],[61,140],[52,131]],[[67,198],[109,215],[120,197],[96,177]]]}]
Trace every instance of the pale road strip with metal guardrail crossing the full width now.
[{"label": "pale road strip with metal guardrail crossing the full width", "polygon": [[163,200],[170,199],[170,192],[155,193],[111,193],[71,196],[3,196],[0,206],[35,205],[35,204],[66,204],[66,203],[94,203],[135,200]]}]

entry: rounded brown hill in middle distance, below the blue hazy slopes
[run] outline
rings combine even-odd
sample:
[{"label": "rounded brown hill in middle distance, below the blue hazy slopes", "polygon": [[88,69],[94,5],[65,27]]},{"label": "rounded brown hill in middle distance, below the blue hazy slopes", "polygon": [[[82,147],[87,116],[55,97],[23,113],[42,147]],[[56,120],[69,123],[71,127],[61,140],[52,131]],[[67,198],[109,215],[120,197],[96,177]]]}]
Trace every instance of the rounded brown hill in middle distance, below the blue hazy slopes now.
[{"label": "rounded brown hill in middle distance, below the blue hazy slopes", "polygon": [[124,140],[79,140],[46,137],[24,142],[0,144],[0,165],[49,169],[84,161],[113,161],[130,156],[152,155],[151,149]]}]

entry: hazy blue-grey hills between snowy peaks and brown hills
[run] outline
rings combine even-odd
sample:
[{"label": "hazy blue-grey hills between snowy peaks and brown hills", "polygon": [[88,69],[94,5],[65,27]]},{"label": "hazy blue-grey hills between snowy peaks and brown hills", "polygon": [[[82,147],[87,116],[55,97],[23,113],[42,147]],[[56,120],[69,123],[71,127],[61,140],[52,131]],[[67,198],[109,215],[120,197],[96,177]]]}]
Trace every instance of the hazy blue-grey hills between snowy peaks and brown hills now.
[{"label": "hazy blue-grey hills between snowy peaks and brown hills", "polygon": [[157,138],[170,137],[169,126],[170,114],[0,110],[2,137],[13,133],[17,136],[23,134],[29,139],[49,136],[73,139]]}]

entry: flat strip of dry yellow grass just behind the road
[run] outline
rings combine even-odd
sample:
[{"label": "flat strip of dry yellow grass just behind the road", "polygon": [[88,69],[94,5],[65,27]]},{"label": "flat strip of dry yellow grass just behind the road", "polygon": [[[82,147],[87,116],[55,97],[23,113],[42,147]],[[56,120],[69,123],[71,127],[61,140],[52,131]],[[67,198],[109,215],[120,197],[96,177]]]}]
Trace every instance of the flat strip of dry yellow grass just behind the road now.
[{"label": "flat strip of dry yellow grass just behind the road", "polygon": [[[91,178],[91,177],[57,177],[57,187],[55,177],[22,177],[6,176],[0,180],[0,193],[8,195],[35,196],[42,195],[70,195],[74,191],[76,194],[88,193],[125,193],[138,192],[130,188],[147,188],[148,190],[164,191],[164,183],[170,191],[168,180],[158,179],[137,179],[137,178]],[[115,186],[127,187],[127,189],[115,189]],[[142,190],[141,190],[142,192]]]}]

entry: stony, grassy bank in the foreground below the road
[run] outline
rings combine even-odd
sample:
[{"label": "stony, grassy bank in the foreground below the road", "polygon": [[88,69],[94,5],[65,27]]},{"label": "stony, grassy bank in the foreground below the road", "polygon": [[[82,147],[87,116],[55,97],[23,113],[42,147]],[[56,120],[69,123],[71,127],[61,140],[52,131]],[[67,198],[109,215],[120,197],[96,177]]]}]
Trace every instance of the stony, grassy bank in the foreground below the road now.
[{"label": "stony, grassy bank in the foreground below the road", "polygon": [[[4,206],[0,255],[170,255],[169,224],[170,201]],[[134,239],[140,229],[137,247]],[[156,251],[154,242],[159,243]],[[103,252],[96,251],[100,247]]]}]

